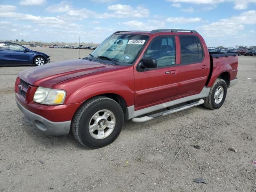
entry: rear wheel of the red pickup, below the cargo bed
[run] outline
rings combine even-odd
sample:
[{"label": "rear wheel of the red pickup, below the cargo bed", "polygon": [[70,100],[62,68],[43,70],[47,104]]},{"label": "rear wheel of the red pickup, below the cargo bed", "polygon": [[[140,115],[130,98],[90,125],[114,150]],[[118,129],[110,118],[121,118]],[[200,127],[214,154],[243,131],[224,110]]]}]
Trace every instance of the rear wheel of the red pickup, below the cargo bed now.
[{"label": "rear wheel of the red pickup, below the cargo bed", "polygon": [[[223,92],[220,91],[220,88],[223,89]],[[220,92],[220,94],[218,93],[216,94],[216,92]],[[211,110],[216,110],[220,108],[226,99],[226,94],[227,94],[226,82],[223,79],[217,79],[214,82],[213,86],[211,87],[208,97],[204,98],[204,106]]]}]

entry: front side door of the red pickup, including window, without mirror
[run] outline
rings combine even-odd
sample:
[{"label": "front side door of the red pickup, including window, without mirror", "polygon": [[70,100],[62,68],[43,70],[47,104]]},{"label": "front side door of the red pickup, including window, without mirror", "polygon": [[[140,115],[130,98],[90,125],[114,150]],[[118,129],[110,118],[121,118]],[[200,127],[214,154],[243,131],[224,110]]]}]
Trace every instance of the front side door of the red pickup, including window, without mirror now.
[{"label": "front side door of the red pickup, including window, without mirror", "polygon": [[179,66],[176,65],[174,36],[152,39],[145,57],[157,60],[156,68],[134,68],[135,110],[173,100],[178,89]]}]

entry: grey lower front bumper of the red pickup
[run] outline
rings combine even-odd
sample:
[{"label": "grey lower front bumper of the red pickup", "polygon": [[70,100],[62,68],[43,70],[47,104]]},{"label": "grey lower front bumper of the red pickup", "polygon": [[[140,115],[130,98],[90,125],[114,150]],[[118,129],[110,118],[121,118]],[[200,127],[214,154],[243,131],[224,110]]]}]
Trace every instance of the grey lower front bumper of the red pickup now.
[{"label": "grey lower front bumper of the red pickup", "polygon": [[57,136],[66,135],[69,133],[71,121],[52,122],[38,114],[32,113],[31,111],[27,110],[18,102],[17,99],[16,103],[18,105],[18,108],[20,108],[20,110],[26,116],[28,121],[45,134]]}]

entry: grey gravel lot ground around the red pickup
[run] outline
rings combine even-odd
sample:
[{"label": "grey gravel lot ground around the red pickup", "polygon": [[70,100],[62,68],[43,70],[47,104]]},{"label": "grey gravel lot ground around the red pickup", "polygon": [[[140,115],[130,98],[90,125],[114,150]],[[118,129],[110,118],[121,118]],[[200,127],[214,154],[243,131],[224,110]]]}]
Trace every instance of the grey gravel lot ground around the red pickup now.
[{"label": "grey gravel lot ground around the red pickup", "polygon": [[[78,50],[34,49],[52,61],[78,58]],[[127,121],[115,142],[97,150],[72,135],[45,136],[26,122],[13,86],[30,67],[0,68],[0,192],[256,191],[256,57],[239,57],[239,81],[219,110],[197,106]]]}]

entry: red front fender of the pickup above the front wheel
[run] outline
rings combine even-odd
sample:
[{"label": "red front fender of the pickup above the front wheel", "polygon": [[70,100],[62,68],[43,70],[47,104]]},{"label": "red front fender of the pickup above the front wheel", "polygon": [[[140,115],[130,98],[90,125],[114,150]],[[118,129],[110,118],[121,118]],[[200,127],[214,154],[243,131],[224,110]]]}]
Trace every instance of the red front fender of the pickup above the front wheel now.
[{"label": "red front fender of the pickup above the front wheel", "polygon": [[114,69],[79,76],[53,86],[67,92],[65,104],[84,102],[100,94],[122,96],[128,106],[134,104],[133,66],[114,66]]}]

